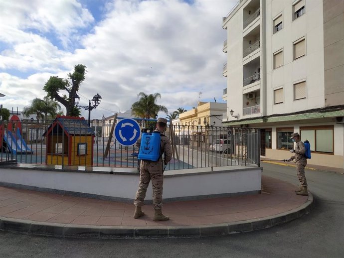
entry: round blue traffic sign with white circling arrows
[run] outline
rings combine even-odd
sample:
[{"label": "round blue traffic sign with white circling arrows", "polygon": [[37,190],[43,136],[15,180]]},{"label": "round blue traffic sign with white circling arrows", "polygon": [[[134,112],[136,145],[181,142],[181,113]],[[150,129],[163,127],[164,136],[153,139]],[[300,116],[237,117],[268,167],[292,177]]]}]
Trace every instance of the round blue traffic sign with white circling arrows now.
[{"label": "round blue traffic sign with white circling arrows", "polygon": [[122,119],[115,127],[115,138],[124,146],[132,146],[141,135],[140,125],[131,118]]}]

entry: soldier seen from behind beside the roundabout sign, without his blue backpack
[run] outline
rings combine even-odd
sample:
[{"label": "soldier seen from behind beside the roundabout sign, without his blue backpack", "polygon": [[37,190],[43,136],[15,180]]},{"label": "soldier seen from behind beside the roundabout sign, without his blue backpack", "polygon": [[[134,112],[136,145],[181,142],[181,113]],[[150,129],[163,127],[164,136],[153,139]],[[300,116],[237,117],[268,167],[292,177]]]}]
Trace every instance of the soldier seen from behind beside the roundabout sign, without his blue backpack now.
[{"label": "soldier seen from behind beside the roundabout sign, without his blue backpack", "polygon": [[[139,189],[136,192],[134,200],[135,213],[134,218],[138,219],[145,214],[142,212],[141,207],[144,205],[146,197],[146,191],[149,182],[152,180],[153,187],[153,207],[155,210],[154,221],[166,221],[169,217],[162,214],[163,206],[163,183],[164,183],[164,167],[172,159],[172,146],[170,139],[164,134],[167,128],[167,120],[159,118],[157,123],[156,131],[160,131],[160,158],[158,161],[141,160],[140,164],[140,182]],[[141,139],[138,140],[137,144],[140,146]],[[163,161],[162,154],[165,152],[165,159]]]}]

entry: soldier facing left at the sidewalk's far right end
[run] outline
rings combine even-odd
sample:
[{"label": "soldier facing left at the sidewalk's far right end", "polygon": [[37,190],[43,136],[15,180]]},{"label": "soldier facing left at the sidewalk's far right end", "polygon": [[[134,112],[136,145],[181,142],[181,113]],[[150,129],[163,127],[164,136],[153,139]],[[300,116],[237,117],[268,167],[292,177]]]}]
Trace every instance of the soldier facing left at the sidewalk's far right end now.
[{"label": "soldier facing left at the sidewalk's far right end", "polygon": [[288,159],[288,161],[295,160],[294,162],[296,163],[296,171],[301,184],[300,189],[295,190],[295,192],[298,195],[308,196],[307,180],[305,176],[305,166],[307,165],[305,144],[302,142],[302,140],[300,140],[300,135],[298,132],[292,133],[290,138],[293,139],[293,142],[296,142],[296,144],[295,149],[290,150],[290,152],[295,153],[295,155]]}]

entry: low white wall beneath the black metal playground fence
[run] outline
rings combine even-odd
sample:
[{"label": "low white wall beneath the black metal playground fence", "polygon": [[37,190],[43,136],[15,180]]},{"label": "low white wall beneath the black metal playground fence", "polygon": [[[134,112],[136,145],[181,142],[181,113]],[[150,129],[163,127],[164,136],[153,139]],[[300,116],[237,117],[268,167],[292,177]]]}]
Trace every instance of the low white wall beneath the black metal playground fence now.
[{"label": "low white wall beneath the black metal playground fence", "polygon": [[[164,199],[245,193],[261,190],[261,168],[227,166],[171,170],[164,173]],[[117,169],[116,169],[117,170]],[[0,169],[0,183],[133,200],[139,175],[121,168],[121,173],[63,172],[59,170]],[[123,173],[128,171],[128,173]],[[39,189],[38,189],[39,190]],[[146,200],[152,200],[150,184]]]}]

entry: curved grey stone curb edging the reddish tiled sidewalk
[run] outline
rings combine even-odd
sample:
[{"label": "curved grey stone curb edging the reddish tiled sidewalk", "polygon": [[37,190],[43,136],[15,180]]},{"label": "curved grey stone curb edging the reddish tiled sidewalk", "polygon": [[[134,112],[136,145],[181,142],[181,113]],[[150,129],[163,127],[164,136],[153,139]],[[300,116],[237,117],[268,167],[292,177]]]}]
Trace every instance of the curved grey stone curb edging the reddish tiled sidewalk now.
[{"label": "curved grey stone curb edging the reddish tiled sidewalk", "polygon": [[179,227],[75,225],[0,217],[0,230],[61,238],[199,238],[251,232],[278,226],[309,214],[314,205],[313,195],[309,193],[303,205],[277,215],[231,223]]}]

